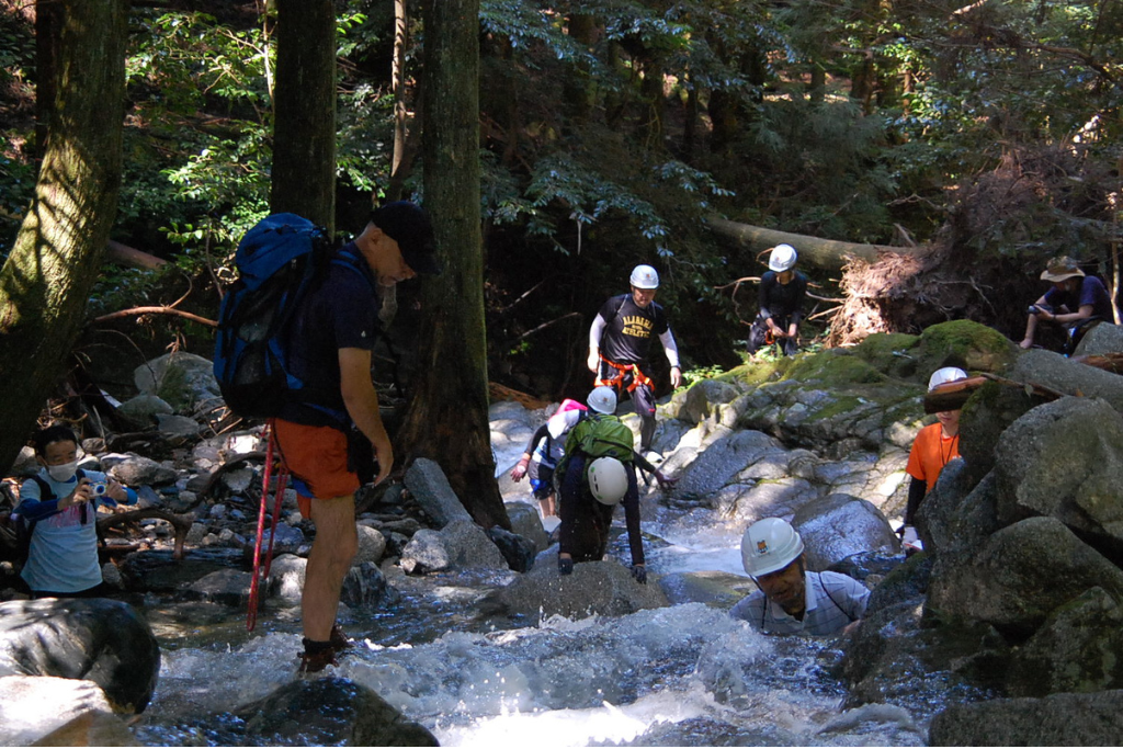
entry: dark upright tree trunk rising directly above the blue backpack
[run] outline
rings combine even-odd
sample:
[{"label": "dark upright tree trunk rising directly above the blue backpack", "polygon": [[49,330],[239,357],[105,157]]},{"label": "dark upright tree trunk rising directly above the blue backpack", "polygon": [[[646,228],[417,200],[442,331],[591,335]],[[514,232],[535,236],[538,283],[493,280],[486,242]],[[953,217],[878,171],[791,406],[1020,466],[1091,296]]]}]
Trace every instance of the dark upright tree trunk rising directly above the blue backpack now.
[{"label": "dark upright tree trunk rising directly above the blue backpack", "polygon": [[336,223],[336,12],[332,0],[279,0],[270,210]]}]

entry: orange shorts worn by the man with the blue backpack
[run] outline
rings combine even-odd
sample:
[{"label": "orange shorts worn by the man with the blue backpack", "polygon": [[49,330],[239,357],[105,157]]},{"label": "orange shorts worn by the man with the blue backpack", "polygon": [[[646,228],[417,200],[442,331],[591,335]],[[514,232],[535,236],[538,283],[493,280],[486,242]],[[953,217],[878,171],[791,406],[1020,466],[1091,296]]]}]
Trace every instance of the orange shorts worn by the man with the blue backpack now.
[{"label": "orange shorts worn by the man with the blue backpack", "polygon": [[347,435],[334,427],[308,427],[273,420],[281,459],[295,479],[300,513],[312,515],[312,497],[332,500],[354,494],[358,475],[347,469]]}]

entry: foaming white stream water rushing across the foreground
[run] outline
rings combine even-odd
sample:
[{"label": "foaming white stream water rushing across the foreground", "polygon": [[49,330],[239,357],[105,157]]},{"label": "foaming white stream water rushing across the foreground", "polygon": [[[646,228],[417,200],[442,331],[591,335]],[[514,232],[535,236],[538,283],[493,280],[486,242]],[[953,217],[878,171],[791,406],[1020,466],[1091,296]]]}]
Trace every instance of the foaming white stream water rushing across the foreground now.
[{"label": "foaming white stream water rushing across the foreground", "polygon": [[[740,573],[739,529],[700,509],[655,515],[645,520],[654,574]],[[610,555],[627,558],[626,548],[618,538]],[[764,637],[702,603],[577,621],[489,618],[480,603],[510,575],[391,576],[401,600],[349,612],[359,643],[337,675],[442,746],[921,746],[942,706],[844,710],[837,641]],[[295,612],[263,613],[253,636],[222,606],[152,605],[148,615],[163,666],[137,738],[244,743],[228,711],[293,677]],[[320,741],[294,729],[277,742]]]}]

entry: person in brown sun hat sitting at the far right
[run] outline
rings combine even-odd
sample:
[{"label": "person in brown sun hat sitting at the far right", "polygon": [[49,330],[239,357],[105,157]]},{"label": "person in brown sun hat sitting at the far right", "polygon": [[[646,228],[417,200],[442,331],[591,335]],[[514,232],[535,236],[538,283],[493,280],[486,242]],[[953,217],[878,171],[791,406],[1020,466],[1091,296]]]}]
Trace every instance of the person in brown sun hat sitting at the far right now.
[{"label": "person in brown sun hat sitting at the far right", "polygon": [[1088,330],[1104,320],[1113,320],[1112,299],[1104,282],[1085,275],[1071,257],[1062,256],[1049,261],[1041,273],[1042,281],[1052,282],[1052,287],[1030,305],[1025,320],[1025,337],[1019,344],[1022,348],[1033,346],[1033,337],[1040,321],[1056,322],[1068,330],[1065,354],[1071,354]]}]

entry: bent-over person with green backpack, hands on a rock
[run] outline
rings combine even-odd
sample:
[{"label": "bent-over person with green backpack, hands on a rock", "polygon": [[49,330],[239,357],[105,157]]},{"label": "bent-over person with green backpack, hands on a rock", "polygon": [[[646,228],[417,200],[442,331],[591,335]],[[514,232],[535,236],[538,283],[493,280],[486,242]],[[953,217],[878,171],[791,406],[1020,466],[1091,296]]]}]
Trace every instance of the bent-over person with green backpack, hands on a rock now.
[{"label": "bent-over person with green backpack, hands on a rock", "polygon": [[613,415],[617,394],[611,387],[593,389],[587,402],[588,413],[569,431],[565,457],[555,472],[560,481],[558,572],[569,575],[575,561],[604,557],[612,513],[623,504],[632,577],[646,584],[636,466],[654,474],[660,486],[674,479],[636,453],[631,429]]}]

